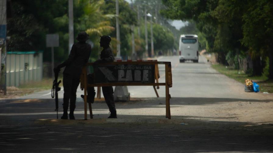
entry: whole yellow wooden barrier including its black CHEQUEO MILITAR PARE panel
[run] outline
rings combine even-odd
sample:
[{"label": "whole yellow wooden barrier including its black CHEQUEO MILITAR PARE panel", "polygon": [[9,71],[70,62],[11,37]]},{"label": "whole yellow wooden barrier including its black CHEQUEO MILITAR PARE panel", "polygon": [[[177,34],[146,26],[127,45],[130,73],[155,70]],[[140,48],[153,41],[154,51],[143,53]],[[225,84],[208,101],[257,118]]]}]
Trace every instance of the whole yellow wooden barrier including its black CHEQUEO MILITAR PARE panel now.
[{"label": "whole yellow wooden barrier including its black CHEQUEO MILITAR PARE panel", "polygon": [[[157,64],[165,65],[165,83],[158,83]],[[87,87],[105,86],[165,86],[166,91],[166,118],[171,119],[169,88],[172,87],[172,66],[171,62],[127,61],[103,63],[94,70],[94,84],[87,84],[87,63],[83,67],[80,86],[84,89],[84,119],[87,120]],[[157,82],[155,82],[157,80]],[[156,91],[156,90],[155,90]],[[89,104],[90,118],[93,118],[92,106]]]}]

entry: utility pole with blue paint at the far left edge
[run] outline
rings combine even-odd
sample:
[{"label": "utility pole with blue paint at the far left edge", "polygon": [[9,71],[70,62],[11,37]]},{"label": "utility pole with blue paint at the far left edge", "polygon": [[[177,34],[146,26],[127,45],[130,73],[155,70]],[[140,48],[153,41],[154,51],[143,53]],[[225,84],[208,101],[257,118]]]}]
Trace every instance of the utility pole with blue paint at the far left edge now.
[{"label": "utility pole with blue paint at the far left edge", "polygon": [[1,55],[1,77],[0,87],[4,95],[7,94],[6,82],[6,58],[7,58],[7,0],[0,0],[0,55]]}]

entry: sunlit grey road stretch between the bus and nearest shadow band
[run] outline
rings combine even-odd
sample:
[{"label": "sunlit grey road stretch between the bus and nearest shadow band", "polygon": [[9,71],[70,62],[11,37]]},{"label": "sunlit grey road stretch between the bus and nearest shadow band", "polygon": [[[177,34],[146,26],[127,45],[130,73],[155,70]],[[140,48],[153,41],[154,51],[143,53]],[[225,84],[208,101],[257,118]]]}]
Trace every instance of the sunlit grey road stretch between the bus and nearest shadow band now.
[{"label": "sunlit grey road stretch between the bus and nearest shadow band", "polygon": [[[159,61],[172,62],[173,87],[170,88],[172,97],[238,97],[229,88],[228,83],[234,81],[212,69],[204,56],[200,56],[199,63],[179,63],[178,56],[162,57]],[[165,82],[165,66],[159,65],[159,71],[161,76],[159,82]],[[237,82],[234,83],[238,85]],[[155,97],[152,87],[130,86],[128,89],[132,97]],[[160,97],[165,97],[164,86],[158,93]]]}]

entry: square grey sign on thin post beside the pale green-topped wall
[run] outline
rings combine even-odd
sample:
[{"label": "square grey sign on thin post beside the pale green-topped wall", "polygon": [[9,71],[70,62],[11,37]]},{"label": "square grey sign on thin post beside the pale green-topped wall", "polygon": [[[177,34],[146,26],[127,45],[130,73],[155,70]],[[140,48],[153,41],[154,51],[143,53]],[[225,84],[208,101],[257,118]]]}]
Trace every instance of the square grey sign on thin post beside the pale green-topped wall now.
[{"label": "square grey sign on thin post beside the pale green-topped wall", "polygon": [[59,47],[59,34],[47,34],[46,47],[51,47],[51,77],[54,79],[54,47]]}]

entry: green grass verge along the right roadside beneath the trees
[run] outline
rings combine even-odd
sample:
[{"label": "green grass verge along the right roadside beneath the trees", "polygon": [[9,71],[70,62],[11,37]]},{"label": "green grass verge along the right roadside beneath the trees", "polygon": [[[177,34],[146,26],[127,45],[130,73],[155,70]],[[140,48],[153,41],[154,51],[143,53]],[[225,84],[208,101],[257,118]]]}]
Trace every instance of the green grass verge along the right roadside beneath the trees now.
[{"label": "green grass verge along the right roadside beneath the trees", "polygon": [[221,64],[218,65],[211,65],[212,68],[217,70],[219,73],[226,75],[227,77],[230,77],[236,81],[239,81],[240,83],[245,83],[246,79],[250,79],[254,82],[256,82],[260,87],[260,92],[268,92],[273,93],[273,80],[268,80],[267,77],[264,76],[250,76],[249,74],[244,73],[243,71],[234,69],[230,66],[224,66]]}]

